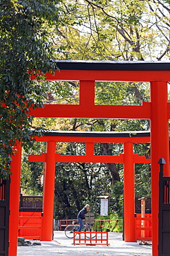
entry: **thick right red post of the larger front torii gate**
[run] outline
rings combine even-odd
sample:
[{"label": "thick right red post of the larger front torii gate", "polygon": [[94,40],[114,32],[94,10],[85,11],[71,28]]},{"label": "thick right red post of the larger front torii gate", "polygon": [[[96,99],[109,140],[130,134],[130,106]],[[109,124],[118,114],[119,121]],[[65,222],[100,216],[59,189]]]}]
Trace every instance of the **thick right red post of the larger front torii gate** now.
[{"label": "thick right red post of the larger front torii gate", "polygon": [[167,82],[151,82],[151,213],[152,251],[158,255],[158,161],[164,158],[164,176],[169,176],[169,124]]}]

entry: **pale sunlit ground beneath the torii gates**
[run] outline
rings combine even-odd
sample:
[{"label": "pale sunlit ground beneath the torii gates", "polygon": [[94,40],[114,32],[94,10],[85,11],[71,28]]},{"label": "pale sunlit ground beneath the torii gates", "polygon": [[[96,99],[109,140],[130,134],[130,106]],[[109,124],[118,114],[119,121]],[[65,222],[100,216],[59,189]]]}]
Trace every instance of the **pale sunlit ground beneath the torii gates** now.
[{"label": "pale sunlit ground beneath the torii gates", "polygon": [[122,233],[109,232],[109,246],[72,245],[63,231],[54,231],[54,241],[41,241],[41,246],[19,246],[18,256],[151,256],[151,245],[125,243]]}]

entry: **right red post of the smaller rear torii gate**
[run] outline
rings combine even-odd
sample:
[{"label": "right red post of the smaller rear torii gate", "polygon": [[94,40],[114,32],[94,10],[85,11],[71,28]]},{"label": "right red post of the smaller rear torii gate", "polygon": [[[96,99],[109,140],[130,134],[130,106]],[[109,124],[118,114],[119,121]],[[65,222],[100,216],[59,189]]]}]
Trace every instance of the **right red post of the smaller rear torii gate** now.
[{"label": "right red post of the smaller rear torii gate", "polygon": [[124,143],[124,231],[125,241],[136,241],[133,143]]}]

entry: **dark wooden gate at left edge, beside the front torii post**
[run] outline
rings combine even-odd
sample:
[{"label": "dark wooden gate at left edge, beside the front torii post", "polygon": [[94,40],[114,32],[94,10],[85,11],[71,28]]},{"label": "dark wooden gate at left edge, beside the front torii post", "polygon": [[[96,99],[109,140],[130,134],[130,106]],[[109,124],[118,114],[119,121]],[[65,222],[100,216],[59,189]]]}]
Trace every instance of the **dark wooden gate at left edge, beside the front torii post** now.
[{"label": "dark wooden gate at left edge, beside the front torii post", "polygon": [[0,179],[0,256],[8,256],[10,180]]}]

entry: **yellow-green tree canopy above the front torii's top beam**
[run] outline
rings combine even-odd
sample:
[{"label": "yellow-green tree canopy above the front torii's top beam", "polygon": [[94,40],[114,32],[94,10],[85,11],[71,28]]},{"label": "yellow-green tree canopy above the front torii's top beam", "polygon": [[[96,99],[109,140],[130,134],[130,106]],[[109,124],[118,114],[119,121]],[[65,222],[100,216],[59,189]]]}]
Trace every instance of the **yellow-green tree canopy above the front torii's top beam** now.
[{"label": "yellow-green tree canopy above the front torii's top beam", "polygon": [[65,0],[54,42],[73,60],[169,60],[169,12],[169,0]]}]

